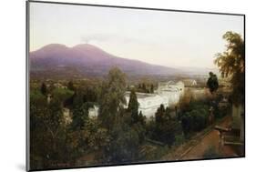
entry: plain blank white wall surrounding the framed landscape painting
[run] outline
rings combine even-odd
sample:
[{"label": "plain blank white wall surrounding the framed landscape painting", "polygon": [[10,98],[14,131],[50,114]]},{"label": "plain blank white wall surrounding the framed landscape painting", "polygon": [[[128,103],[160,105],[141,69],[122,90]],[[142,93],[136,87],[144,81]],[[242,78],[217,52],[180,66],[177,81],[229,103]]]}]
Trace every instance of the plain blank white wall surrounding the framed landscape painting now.
[{"label": "plain blank white wall surrounding the framed landscape painting", "polygon": [[[246,158],[165,163],[144,166],[97,167],[70,171],[87,172],[216,172],[253,171],[255,169],[255,86],[256,11],[253,0],[62,0],[67,2],[105,5],[130,5],[155,8],[213,11],[246,14],[247,33],[247,106]],[[0,171],[24,171],[26,147],[26,58],[25,58],[25,0],[3,0],[0,5]],[[62,170],[63,172],[68,170]]]}]

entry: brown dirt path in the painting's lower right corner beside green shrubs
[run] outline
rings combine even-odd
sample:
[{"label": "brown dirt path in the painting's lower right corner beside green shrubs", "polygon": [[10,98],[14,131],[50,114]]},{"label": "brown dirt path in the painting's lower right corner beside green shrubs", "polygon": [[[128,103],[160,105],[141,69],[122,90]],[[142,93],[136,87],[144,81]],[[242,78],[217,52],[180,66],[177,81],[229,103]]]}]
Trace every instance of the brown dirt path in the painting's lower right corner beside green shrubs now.
[{"label": "brown dirt path in the painting's lower right corner beside green shrubs", "polygon": [[[231,116],[225,116],[218,126],[230,126]],[[163,157],[164,160],[187,160],[201,159],[209,147],[215,147],[219,151],[219,132],[214,129],[215,125],[210,126],[205,131],[191,138],[188,143],[177,147],[173,152]],[[237,156],[230,147],[223,147],[219,152],[221,157]]]}]

